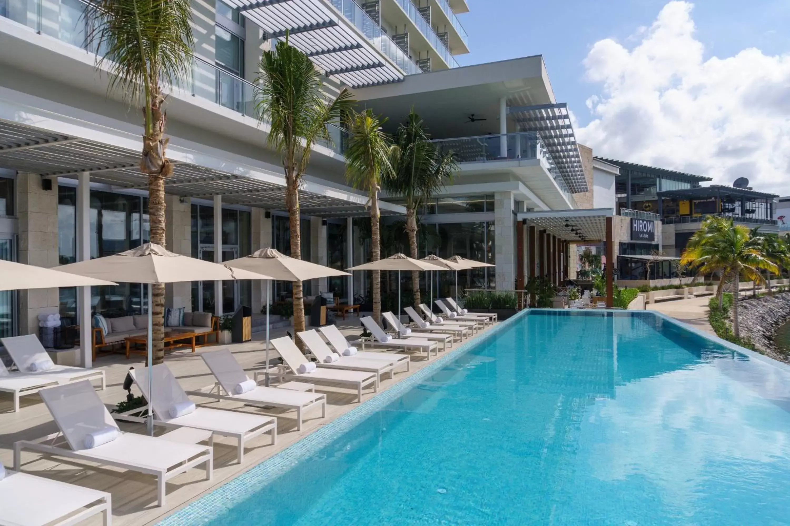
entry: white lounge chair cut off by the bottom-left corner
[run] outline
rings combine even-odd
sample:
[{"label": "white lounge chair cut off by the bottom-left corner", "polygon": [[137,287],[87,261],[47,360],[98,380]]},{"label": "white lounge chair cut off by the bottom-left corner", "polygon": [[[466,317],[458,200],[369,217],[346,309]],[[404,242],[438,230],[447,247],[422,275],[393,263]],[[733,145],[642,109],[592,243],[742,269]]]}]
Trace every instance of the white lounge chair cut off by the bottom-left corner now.
[{"label": "white lounge chair cut off by the bottom-left corner", "polygon": [[99,514],[111,526],[109,493],[11,470],[0,480],[0,524],[66,526]]}]

